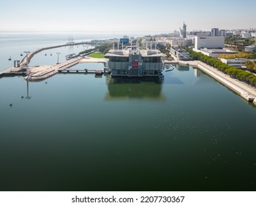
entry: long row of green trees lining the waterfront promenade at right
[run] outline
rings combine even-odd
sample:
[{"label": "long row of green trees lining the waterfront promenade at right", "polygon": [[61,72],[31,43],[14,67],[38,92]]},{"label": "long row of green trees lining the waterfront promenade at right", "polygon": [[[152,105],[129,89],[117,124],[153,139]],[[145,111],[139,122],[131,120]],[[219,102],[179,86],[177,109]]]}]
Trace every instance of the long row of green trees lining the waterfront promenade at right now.
[{"label": "long row of green trees lining the waterfront promenade at right", "polygon": [[193,51],[191,48],[187,49],[190,52],[190,57],[193,60],[200,60],[212,67],[217,68],[219,71],[228,74],[230,77],[239,79],[243,82],[246,82],[249,85],[256,87],[256,76],[249,71],[244,71],[241,68],[235,68],[231,65],[226,65],[213,57],[208,57],[207,55],[201,54],[199,52]]}]

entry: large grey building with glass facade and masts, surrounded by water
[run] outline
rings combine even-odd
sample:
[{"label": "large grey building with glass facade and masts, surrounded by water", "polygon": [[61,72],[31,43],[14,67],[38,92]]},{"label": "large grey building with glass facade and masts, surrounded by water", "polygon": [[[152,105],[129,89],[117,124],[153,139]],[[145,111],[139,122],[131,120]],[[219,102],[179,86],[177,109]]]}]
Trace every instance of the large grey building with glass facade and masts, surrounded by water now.
[{"label": "large grey building with glass facade and masts, surrounded by water", "polygon": [[111,49],[105,54],[112,77],[159,77],[165,56],[157,49]]}]

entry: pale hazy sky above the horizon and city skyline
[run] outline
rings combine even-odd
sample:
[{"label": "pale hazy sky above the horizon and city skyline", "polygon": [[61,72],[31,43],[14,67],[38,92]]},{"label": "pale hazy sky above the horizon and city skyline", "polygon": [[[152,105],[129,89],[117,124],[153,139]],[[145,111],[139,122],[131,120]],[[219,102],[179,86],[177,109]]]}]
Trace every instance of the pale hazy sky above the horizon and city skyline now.
[{"label": "pale hazy sky above the horizon and city skyline", "polygon": [[0,0],[0,31],[173,32],[255,28],[255,0]]}]

